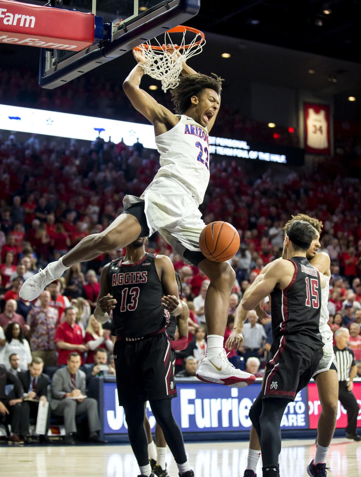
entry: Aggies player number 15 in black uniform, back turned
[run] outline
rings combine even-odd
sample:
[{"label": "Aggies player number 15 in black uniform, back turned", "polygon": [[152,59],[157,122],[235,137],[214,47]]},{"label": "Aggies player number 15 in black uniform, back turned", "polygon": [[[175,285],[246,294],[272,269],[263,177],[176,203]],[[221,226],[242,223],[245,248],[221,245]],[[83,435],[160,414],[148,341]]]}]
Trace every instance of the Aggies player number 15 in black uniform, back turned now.
[{"label": "Aggies player number 15 in black uniform, back turned", "polygon": [[304,388],[323,355],[319,271],[306,259],[317,231],[309,222],[295,220],[283,244],[284,260],[275,260],[246,290],[242,307],[252,310],[269,294],[273,344],[262,390],[249,410],[261,445],[263,476],[279,477],[282,415]]}]

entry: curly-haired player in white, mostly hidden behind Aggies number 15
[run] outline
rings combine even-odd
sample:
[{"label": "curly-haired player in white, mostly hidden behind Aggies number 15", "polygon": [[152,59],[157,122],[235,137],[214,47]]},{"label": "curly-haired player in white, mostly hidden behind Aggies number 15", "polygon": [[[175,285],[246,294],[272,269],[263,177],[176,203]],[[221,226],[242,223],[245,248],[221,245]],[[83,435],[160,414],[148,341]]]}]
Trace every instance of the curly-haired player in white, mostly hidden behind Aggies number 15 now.
[{"label": "curly-haired player in white, mostly hidden behind Aggies number 15", "polygon": [[[339,386],[335,357],[332,348],[332,332],[330,330],[329,325],[327,324],[327,321],[329,320],[329,311],[327,309],[327,303],[329,300],[331,277],[330,257],[327,255],[327,253],[324,252],[317,253],[318,249],[320,248],[320,232],[323,227],[322,222],[316,218],[309,217],[306,214],[298,214],[296,216],[292,216],[292,218],[286,223],[286,225],[284,226],[284,230],[286,232],[291,223],[295,220],[305,220],[317,230],[316,239],[312,241],[310,248],[307,250],[306,258],[309,260],[310,264],[313,267],[317,268],[320,273],[323,274],[323,279],[326,282],[325,288],[322,288],[321,290],[320,311],[320,333],[322,336],[322,341],[325,345],[322,349],[323,356],[320,360],[316,372],[313,375],[313,378],[316,380],[322,411],[318,422],[316,454],[307,468],[307,471],[310,476],[321,477],[326,475],[326,456],[336,426]],[[265,273],[269,266],[270,264],[268,264],[261,271],[261,273]],[[246,319],[246,315],[247,311],[244,311],[242,308],[242,304],[240,304],[236,312],[235,329],[232,335],[229,337],[230,341],[229,343],[227,342],[227,347],[233,347],[234,345],[236,345],[236,347],[241,346],[243,341],[242,326],[244,320]],[[244,477],[256,477],[256,467],[258,463],[259,454],[259,440],[257,433],[252,426],[249,439],[248,463],[247,469],[244,473]]]}]

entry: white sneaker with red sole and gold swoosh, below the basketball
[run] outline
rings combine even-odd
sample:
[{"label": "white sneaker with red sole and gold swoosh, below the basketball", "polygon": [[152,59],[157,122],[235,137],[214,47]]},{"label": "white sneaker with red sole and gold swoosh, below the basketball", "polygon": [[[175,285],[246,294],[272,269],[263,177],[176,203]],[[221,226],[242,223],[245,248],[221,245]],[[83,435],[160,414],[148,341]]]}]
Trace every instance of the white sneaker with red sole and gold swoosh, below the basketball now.
[{"label": "white sneaker with red sole and gold swoosh, below the basketball", "polygon": [[229,363],[225,350],[210,358],[204,358],[196,377],[206,383],[225,384],[231,387],[246,387],[256,380],[253,374],[241,371]]}]

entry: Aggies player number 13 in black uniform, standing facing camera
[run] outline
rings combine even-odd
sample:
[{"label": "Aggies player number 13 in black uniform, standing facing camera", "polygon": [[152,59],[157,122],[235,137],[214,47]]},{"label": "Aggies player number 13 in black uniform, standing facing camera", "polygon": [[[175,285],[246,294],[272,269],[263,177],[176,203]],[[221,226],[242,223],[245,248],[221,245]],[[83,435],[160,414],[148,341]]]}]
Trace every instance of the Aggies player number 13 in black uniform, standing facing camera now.
[{"label": "Aggies player number 13 in black uniform, standing facing camera", "polygon": [[102,270],[97,321],[113,310],[114,363],[119,404],[124,407],[128,436],[141,476],[154,477],[147,452],[144,403],[149,401],[175,458],[179,476],[194,477],[183,436],[175,422],[171,398],[176,396],[171,346],[164,310],[178,315],[183,307],[173,265],[168,257],[145,253],[146,239],[137,239],[126,255]]}]

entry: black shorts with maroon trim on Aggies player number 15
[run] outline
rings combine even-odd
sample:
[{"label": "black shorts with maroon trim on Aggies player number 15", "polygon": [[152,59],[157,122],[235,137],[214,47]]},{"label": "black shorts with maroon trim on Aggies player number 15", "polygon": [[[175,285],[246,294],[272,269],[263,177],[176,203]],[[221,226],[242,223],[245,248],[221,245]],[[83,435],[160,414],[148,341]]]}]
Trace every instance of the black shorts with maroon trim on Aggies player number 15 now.
[{"label": "black shorts with maroon trim on Aggies player number 15", "polygon": [[309,383],[322,356],[322,348],[313,349],[286,335],[276,339],[266,364],[262,398],[284,397],[294,401]]}]

